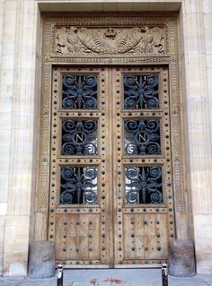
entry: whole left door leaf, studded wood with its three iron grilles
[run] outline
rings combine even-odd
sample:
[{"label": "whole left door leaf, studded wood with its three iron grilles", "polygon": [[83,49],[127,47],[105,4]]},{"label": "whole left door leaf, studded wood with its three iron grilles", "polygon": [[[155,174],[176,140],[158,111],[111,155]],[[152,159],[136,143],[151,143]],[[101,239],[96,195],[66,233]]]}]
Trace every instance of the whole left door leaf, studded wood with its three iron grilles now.
[{"label": "whole left door leaf, studded wood with its three iron grilles", "polygon": [[107,68],[53,69],[49,240],[69,267],[112,264],[108,97]]}]

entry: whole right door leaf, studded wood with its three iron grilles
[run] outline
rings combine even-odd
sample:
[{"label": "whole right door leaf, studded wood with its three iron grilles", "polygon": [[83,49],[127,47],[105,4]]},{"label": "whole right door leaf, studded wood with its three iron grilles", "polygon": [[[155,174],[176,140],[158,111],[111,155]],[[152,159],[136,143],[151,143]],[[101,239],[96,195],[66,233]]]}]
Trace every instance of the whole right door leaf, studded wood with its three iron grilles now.
[{"label": "whole right door leaf, studded wood with its three iron grilles", "polygon": [[112,74],[115,264],[161,264],[175,231],[168,69]]}]

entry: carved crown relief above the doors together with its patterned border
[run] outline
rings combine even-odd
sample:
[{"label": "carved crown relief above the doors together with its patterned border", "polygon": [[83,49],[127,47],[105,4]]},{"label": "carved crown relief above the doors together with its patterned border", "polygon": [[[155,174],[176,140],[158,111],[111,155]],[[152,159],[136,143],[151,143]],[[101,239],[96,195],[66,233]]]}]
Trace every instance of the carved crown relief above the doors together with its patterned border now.
[{"label": "carved crown relief above the doors together with its patterned border", "polygon": [[176,13],[44,14],[45,29],[49,30],[45,34],[49,43],[46,56],[169,57],[173,17],[176,19]]}]

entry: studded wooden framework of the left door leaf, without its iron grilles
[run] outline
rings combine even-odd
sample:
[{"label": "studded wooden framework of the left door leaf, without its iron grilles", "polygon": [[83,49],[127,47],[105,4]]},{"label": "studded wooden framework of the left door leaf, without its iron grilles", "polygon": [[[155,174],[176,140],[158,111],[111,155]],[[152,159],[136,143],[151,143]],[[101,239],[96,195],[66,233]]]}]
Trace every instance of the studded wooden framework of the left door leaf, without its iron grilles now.
[{"label": "studded wooden framework of the left door leaf, without its iron grilles", "polygon": [[[61,108],[62,76],[68,74],[97,75],[98,108]],[[58,261],[66,264],[112,264],[112,225],[110,197],[112,188],[108,174],[110,164],[110,108],[107,68],[55,67],[52,77],[51,184],[49,239],[56,242]],[[71,156],[61,153],[61,122],[64,118],[96,119],[98,122],[98,155]],[[94,166],[98,169],[98,204],[59,204],[61,167]]]}]

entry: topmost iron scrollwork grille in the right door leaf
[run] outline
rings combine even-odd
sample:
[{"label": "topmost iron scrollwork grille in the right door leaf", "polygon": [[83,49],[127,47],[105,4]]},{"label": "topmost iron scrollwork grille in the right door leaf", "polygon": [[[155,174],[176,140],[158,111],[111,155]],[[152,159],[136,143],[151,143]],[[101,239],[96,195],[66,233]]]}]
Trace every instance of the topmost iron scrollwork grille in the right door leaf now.
[{"label": "topmost iron scrollwork grille in the right door leaf", "polygon": [[124,108],[159,108],[158,75],[124,75]]}]

